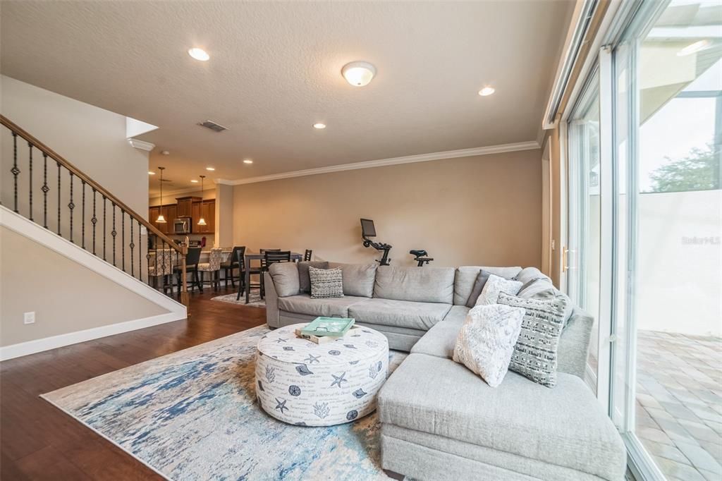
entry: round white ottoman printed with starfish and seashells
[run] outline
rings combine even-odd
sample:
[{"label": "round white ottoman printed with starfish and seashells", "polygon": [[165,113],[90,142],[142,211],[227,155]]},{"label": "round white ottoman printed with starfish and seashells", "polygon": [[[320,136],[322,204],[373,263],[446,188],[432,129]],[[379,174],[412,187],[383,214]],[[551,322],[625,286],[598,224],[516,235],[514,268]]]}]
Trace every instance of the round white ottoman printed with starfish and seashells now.
[{"label": "round white ottoman printed with starfish and seashells", "polygon": [[376,409],[388,372],[388,340],[357,327],[316,344],[293,324],[271,331],[256,349],[256,396],[269,415],[302,426],[349,423]]}]

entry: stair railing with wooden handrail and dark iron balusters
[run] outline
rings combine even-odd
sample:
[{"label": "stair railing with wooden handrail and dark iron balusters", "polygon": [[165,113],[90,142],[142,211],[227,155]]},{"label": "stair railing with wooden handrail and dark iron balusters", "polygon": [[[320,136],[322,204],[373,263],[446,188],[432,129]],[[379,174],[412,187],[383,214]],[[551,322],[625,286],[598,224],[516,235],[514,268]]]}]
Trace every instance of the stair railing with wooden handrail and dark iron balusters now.
[{"label": "stair railing with wooden handrail and dark iron balusters", "polygon": [[[163,261],[165,255],[162,256],[162,265],[158,265],[159,256],[154,254],[157,254],[161,245],[164,251],[170,249],[171,259],[175,254],[175,261],[170,264],[181,267],[178,298],[188,307],[186,246],[179,246],[173,242],[144,217],[111,194],[108,189],[5,116],[0,115],[0,123],[12,134],[10,173],[13,175],[13,196],[12,201],[3,196],[5,207],[12,208],[14,212],[32,222],[52,230],[141,282],[156,287],[155,283],[160,278],[164,293],[169,287],[165,280],[173,280],[173,265],[169,267]],[[24,149],[27,149],[27,156],[22,155]],[[51,159],[50,162],[48,158]],[[35,172],[40,170],[40,173],[35,173],[33,169]],[[34,173],[35,177],[33,177]],[[63,182],[64,180],[66,182]],[[62,190],[64,183],[67,185],[65,191]],[[4,182],[3,185],[6,183]],[[38,194],[38,185],[41,194]],[[40,195],[42,201],[38,200]],[[40,202],[42,208],[38,205]],[[51,204],[50,208],[48,202]],[[49,223],[48,216],[50,216]],[[145,243],[143,228],[147,233]],[[102,233],[102,245],[99,231]],[[151,246],[155,246],[155,252]],[[173,295],[173,282],[170,283],[170,291]]]}]

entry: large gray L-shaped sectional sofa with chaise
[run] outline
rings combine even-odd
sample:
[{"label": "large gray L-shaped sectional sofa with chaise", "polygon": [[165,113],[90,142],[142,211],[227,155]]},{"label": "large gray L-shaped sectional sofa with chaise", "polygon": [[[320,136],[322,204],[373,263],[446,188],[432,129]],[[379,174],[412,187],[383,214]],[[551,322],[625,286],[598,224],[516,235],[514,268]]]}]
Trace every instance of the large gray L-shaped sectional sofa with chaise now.
[{"label": "large gray L-shaped sectional sofa with chaise", "polygon": [[553,389],[514,372],[491,388],[452,360],[479,270],[529,282],[519,295],[562,295],[538,269],[310,263],[341,267],[344,283],[343,298],[312,299],[308,264],[266,273],[269,326],[352,317],[411,353],[378,394],[384,469],[417,480],[623,479],[624,443],[583,381],[593,319],[579,308],[562,331]]}]

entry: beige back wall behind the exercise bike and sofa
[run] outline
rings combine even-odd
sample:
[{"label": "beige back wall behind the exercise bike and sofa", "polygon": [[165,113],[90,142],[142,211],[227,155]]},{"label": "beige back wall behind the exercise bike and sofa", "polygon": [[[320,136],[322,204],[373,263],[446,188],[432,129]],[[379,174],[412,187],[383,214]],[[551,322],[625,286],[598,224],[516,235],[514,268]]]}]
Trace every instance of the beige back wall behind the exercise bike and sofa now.
[{"label": "beige back wall behind the exercise bike and sofa", "polygon": [[541,151],[436,160],[288,178],[234,188],[233,241],[312,248],[320,259],[372,262],[359,219],[393,245],[392,264],[539,266]]}]

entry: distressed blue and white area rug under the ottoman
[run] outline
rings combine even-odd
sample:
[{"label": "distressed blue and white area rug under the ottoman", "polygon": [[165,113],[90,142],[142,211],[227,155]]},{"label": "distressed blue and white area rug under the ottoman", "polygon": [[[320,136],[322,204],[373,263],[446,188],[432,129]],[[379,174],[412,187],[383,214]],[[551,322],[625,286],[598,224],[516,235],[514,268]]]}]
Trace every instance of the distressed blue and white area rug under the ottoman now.
[{"label": "distressed blue and white area rug under the ottoman", "polygon": [[[256,402],[266,326],[43,394],[43,399],[170,480],[388,480],[376,413],[329,428],[293,426]],[[389,371],[406,357],[391,351]]]}]

